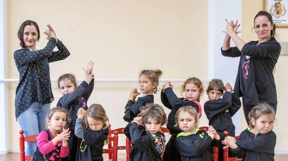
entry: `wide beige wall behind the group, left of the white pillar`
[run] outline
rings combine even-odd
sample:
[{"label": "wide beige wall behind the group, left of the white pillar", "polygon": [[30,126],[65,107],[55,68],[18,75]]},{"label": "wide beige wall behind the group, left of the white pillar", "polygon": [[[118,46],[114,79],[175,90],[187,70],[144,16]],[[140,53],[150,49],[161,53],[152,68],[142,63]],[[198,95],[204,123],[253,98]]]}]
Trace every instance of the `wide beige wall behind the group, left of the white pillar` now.
[{"label": "wide beige wall behind the group, left of the white pillar", "polygon": [[[95,61],[97,79],[137,79],[142,68],[159,68],[164,73],[164,79],[191,76],[207,79],[207,5],[207,0],[50,0],[45,3],[39,0],[9,0],[9,78],[19,78],[13,59],[13,52],[19,48],[17,31],[23,21],[32,19],[38,23],[42,33],[38,49],[47,43],[43,31],[50,23],[71,52],[66,60],[50,64],[52,79],[64,73],[73,73],[76,78],[83,79],[81,68],[88,60]],[[55,96],[52,107],[55,107],[61,94],[57,84],[54,82],[52,85]],[[180,85],[175,84],[179,96]],[[19,125],[14,110],[16,87],[17,83],[9,83],[12,150],[19,147]],[[130,90],[136,87],[136,82],[96,83],[88,104],[102,104],[113,129],[124,127],[124,107]],[[159,94],[155,96],[155,103],[161,103]],[[207,122],[202,122],[207,125]]]}]

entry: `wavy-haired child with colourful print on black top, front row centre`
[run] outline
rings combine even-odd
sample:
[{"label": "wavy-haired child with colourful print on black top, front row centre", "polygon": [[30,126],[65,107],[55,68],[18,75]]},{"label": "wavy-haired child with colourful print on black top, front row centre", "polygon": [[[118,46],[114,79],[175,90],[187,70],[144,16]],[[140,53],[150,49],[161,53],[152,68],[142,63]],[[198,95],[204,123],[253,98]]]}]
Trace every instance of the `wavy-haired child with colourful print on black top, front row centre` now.
[{"label": "wavy-haired child with colourful print on black top, front row centre", "polygon": [[146,104],[139,117],[135,117],[129,127],[131,142],[131,161],[161,161],[165,147],[165,136],[160,132],[166,123],[166,114],[157,104]]}]

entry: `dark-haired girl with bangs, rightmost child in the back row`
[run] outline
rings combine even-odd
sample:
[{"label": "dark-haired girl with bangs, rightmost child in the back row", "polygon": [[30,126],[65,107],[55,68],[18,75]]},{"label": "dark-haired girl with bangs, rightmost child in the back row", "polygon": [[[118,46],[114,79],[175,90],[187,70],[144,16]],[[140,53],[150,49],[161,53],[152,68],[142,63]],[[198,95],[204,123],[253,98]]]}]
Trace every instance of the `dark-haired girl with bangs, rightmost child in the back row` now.
[{"label": "dark-haired girl with bangs, rightmost child in the back row", "polygon": [[[223,94],[224,90],[226,92]],[[209,125],[213,126],[217,132],[227,131],[230,136],[235,136],[232,116],[239,110],[241,102],[233,92],[232,86],[229,83],[224,86],[222,80],[213,79],[210,81],[206,92],[209,100],[204,104],[204,111],[209,120]],[[223,97],[220,98],[222,95]],[[222,146],[218,148],[218,160],[222,161]]]}]

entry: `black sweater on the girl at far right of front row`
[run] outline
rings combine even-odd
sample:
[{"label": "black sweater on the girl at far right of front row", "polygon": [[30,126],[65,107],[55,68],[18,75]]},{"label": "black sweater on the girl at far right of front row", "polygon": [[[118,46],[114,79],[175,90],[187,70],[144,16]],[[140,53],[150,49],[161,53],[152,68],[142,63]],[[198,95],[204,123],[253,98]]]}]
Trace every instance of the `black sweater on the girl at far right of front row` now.
[{"label": "black sweater on the girl at far right of front row", "polygon": [[243,158],[243,161],[274,161],[276,134],[270,131],[255,136],[246,129],[240,134],[236,145],[238,148],[230,150],[238,158]]}]

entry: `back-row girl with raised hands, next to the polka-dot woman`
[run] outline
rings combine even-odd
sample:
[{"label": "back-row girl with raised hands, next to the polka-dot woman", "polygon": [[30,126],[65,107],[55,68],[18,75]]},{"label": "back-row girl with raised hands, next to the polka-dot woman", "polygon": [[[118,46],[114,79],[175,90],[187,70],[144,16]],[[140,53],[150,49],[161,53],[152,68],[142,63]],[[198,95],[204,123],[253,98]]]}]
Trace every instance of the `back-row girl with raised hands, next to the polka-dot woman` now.
[{"label": "back-row girl with raised hands, next to the polka-dot woman", "polygon": [[57,106],[66,108],[71,119],[69,126],[71,130],[71,136],[69,139],[69,156],[66,160],[75,161],[78,138],[74,134],[75,123],[77,119],[77,112],[82,107],[87,110],[87,101],[94,88],[94,75],[93,75],[93,61],[87,63],[87,67],[83,68],[85,71],[84,81],[77,86],[75,77],[72,74],[64,74],[58,78],[58,87],[63,95]]}]

